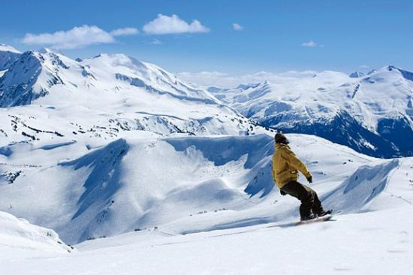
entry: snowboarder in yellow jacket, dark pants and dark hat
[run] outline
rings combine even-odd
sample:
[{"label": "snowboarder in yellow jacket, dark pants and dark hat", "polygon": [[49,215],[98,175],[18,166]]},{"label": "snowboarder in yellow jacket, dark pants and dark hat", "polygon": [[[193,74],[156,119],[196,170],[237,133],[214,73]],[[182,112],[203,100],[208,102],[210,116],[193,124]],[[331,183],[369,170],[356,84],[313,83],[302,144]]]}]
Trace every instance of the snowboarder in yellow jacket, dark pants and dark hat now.
[{"label": "snowboarder in yellow jacket, dark pants and dark hat", "polygon": [[299,183],[298,171],[306,176],[308,183],[313,183],[313,176],[306,165],[300,161],[288,146],[288,139],[284,134],[275,134],[275,152],[273,155],[273,179],[281,194],[294,196],[301,201],[299,214],[301,221],[331,214],[331,210],[324,211],[317,193],[310,187]]}]

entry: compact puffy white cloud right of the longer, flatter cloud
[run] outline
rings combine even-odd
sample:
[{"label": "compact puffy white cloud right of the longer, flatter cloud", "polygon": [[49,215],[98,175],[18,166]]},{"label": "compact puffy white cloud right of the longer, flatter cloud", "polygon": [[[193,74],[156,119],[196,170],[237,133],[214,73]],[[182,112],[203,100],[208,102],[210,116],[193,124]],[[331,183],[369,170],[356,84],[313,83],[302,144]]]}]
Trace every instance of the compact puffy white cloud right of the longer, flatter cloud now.
[{"label": "compact puffy white cloud right of the longer, flatter cloud", "polygon": [[178,15],[171,17],[158,14],[156,19],[143,26],[143,31],[147,34],[178,34],[185,32],[209,32],[209,28],[202,25],[198,20],[193,20],[190,24],[180,19]]}]

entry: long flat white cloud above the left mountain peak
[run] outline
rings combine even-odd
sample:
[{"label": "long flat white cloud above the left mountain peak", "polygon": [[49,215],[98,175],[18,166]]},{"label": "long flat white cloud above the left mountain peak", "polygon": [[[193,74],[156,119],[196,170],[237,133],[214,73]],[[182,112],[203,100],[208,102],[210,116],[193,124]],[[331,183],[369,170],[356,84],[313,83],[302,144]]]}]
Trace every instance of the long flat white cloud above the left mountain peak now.
[{"label": "long flat white cloud above the left mountain peak", "polygon": [[83,25],[74,27],[71,30],[59,30],[53,33],[27,33],[23,37],[22,42],[33,45],[50,45],[55,49],[73,49],[99,43],[114,43],[116,42],[114,37],[136,33],[138,33],[138,30],[134,28],[123,28],[107,32],[97,26]]}]

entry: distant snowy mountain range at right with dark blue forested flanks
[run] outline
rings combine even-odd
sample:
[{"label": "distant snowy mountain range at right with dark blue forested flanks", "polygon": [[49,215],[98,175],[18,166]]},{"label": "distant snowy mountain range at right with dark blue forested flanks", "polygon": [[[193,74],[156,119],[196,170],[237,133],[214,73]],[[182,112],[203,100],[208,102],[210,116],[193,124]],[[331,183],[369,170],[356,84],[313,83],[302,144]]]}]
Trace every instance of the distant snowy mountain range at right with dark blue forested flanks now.
[{"label": "distant snowy mountain range at right with dark blue forested flanks", "polygon": [[209,91],[266,127],[316,134],[371,156],[411,156],[413,73],[387,66],[354,77],[327,71]]}]

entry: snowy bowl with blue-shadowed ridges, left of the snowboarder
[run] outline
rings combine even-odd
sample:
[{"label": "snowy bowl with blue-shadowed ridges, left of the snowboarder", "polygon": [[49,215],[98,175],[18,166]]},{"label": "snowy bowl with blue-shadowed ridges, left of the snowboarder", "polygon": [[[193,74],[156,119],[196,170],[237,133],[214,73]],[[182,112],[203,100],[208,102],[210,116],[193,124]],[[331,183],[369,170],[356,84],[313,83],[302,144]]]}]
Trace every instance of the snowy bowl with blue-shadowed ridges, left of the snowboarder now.
[{"label": "snowy bowl with blue-shadowed ridges, left of the snowboarder", "polygon": [[[243,208],[248,201],[248,194],[243,192],[248,187],[246,180],[253,184],[253,177],[263,165],[267,167],[268,178],[271,137],[247,140],[229,137],[215,141],[158,139],[142,134],[134,134],[142,136],[141,139],[118,139],[90,152],[87,152],[88,143],[82,141],[54,146],[34,147],[24,143],[11,146],[1,166],[1,194],[8,197],[1,203],[1,209],[50,226],[65,241],[75,243],[158,226],[204,210]],[[228,159],[215,165],[214,159],[204,157],[207,152],[191,145],[186,149],[185,143],[181,144],[197,141],[204,146],[211,143],[210,149],[218,145],[227,147]],[[242,149],[243,145],[248,146]],[[257,161],[250,167],[245,154],[259,145],[265,145],[257,152],[264,163]],[[28,154],[34,159],[28,161]],[[253,171],[243,168],[245,161],[248,170],[253,168]],[[241,179],[238,183],[228,182],[222,179],[224,174],[230,177],[238,174]],[[271,181],[262,181],[261,185],[252,188],[251,194],[271,190]],[[22,196],[27,201],[22,201]],[[37,205],[35,210],[30,207],[32,203]]]}]

